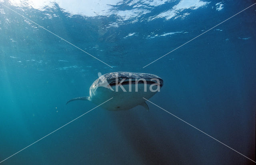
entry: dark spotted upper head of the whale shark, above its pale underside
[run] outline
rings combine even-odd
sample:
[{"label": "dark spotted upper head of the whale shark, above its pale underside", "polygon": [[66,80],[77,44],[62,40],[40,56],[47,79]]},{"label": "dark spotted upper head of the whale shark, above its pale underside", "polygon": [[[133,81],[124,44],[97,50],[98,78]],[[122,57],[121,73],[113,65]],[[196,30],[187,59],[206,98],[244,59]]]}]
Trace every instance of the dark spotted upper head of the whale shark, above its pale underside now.
[{"label": "dark spotted upper head of the whale shark, above its pale underside", "polygon": [[111,91],[116,91],[115,89],[118,89],[116,87],[119,86],[121,87],[121,89],[123,89],[123,91],[127,91],[124,89],[123,86],[130,85],[130,88],[132,88],[132,86],[136,86],[136,85],[137,85],[136,87],[138,87],[138,84],[145,84],[145,85],[157,86],[158,89],[160,89],[164,84],[163,80],[154,74],[133,73],[133,72],[112,72],[112,73],[104,74],[102,76],[100,73],[98,75],[99,75],[99,78],[95,80],[95,82],[92,83],[90,87],[90,95],[94,95],[98,87],[105,87]]}]

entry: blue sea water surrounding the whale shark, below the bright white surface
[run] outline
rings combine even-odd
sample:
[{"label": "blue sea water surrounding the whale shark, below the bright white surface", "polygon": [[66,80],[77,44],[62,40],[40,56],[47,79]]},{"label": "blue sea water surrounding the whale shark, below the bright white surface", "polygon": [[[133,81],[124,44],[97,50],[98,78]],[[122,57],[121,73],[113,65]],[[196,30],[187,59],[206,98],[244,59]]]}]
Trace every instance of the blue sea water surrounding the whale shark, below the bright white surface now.
[{"label": "blue sea water surrounding the whale shark, below the bright white surface", "polygon": [[[256,5],[142,68],[254,0],[121,1],[98,16],[0,2],[113,67],[0,4],[0,161],[94,108],[65,103],[89,95],[98,72],[118,71],[160,76],[150,101],[255,161]],[[149,12],[115,14],[134,8]],[[0,164],[255,164],[148,105],[97,107]]]}]

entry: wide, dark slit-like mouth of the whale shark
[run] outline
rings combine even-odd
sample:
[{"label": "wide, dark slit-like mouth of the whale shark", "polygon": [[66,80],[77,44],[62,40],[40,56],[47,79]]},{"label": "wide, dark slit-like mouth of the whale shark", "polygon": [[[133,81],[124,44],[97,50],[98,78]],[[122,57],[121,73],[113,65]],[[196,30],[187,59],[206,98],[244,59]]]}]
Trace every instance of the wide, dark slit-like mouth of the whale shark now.
[{"label": "wide, dark slit-like mouth of the whale shark", "polygon": [[123,82],[122,82],[122,80],[118,80],[118,81],[113,81],[113,82],[111,82],[111,83],[109,83],[109,85],[112,87],[112,86],[116,86],[116,85],[132,85],[132,84],[148,84],[148,85],[151,85],[151,84],[158,84],[158,85],[160,85],[160,87],[162,87],[163,86],[163,80],[162,79],[158,79],[159,81],[157,82],[156,80],[146,80],[146,79],[144,79],[144,81],[142,81],[142,80],[140,80],[140,81],[138,81],[138,80],[134,80],[134,79],[126,79],[126,80],[124,80]]}]

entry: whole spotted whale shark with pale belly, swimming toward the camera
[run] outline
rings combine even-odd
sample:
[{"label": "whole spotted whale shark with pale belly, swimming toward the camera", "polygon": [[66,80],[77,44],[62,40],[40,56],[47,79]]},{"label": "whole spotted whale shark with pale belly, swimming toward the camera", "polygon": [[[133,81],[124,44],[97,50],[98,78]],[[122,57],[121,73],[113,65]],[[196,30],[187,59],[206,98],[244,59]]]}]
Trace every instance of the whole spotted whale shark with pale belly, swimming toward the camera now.
[{"label": "whole spotted whale shark with pale belly, swimming toward the camera", "polygon": [[[70,99],[66,104],[75,100],[91,101],[97,105],[112,98],[100,107],[110,110],[128,110],[141,105],[149,110],[146,99],[149,99],[163,86],[163,80],[154,75],[134,72],[112,72],[101,75],[92,83],[89,96]],[[144,98],[143,98],[144,97]]]}]

